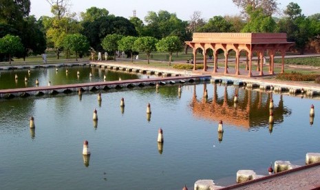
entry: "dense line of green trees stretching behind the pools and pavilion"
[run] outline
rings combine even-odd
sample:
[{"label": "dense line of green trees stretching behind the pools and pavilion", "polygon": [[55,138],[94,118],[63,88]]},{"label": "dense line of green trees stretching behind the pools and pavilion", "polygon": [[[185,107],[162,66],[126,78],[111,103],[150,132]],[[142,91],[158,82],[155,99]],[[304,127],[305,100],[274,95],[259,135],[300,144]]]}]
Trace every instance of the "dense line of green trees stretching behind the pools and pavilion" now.
[{"label": "dense line of green trees stretching behind the pools and pavilion", "polygon": [[295,50],[301,54],[310,42],[320,50],[320,13],[306,17],[297,3],[289,3],[283,17],[275,18],[275,14],[281,13],[276,0],[233,0],[242,10],[239,15],[215,16],[208,21],[199,11],[193,12],[189,21],[165,10],[150,11],[142,20],[116,17],[105,8],[96,7],[81,12],[77,19],[69,11],[69,0],[47,0],[47,3],[53,16],[36,20],[29,15],[30,0],[0,0],[0,42],[19,37],[22,45],[14,46],[17,50],[10,52],[6,45],[0,45],[1,61],[41,54],[47,48],[54,50],[58,59],[61,52],[66,57],[70,54],[82,57],[104,51],[115,55],[118,50],[131,58],[138,52],[149,55],[156,50],[167,52],[171,58],[173,52],[186,47],[184,41],[192,40],[193,32],[286,32],[288,41],[295,42]]}]

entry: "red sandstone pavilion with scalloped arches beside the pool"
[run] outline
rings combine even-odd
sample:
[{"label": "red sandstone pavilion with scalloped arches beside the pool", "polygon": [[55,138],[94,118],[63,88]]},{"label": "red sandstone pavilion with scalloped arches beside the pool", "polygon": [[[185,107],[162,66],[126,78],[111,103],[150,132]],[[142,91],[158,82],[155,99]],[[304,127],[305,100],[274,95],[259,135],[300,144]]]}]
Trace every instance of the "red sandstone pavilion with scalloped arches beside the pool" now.
[{"label": "red sandstone pavilion with scalloped arches beside the pool", "polygon": [[186,44],[193,48],[193,70],[195,67],[198,48],[202,49],[204,56],[204,71],[207,70],[207,50],[213,50],[213,73],[217,72],[217,52],[224,51],[224,74],[228,74],[228,53],[235,51],[235,75],[239,75],[240,55],[246,52],[246,70],[248,76],[252,74],[253,54],[258,56],[257,71],[260,76],[264,76],[264,64],[259,64],[259,60],[263,60],[264,55],[269,56],[269,74],[274,73],[274,59],[276,52],[280,52],[282,56],[281,73],[284,73],[284,56],[286,50],[293,42],[287,42],[286,33],[193,33],[193,40],[186,41]]}]

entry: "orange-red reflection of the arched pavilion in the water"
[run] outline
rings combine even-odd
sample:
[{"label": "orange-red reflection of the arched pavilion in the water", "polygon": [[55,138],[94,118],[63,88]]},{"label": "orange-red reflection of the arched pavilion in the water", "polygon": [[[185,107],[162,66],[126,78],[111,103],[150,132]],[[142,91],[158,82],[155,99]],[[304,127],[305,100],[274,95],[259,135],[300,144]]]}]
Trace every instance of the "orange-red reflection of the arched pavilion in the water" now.
[{"label": "orange-red reflection of the arched pavilion in the water", "polygon": [[[290,115],[291,111],[284,106],[282,95],[279,95],[279,102],[274,102],[274,108],[269,109],[270,100],[273,94],[244,87],[224,86],[224,94],[219,97],[217,85],[213,84],[213,96],[206,98],[206,85],[204,84],[202,98],[197,98],[196,86],[193,88],[193,98],[190,103],[193,115],[198,118],[205,118],[219,123],[223,120],[224,124],[244,127],[245,129],[255,129],[257,127],[269,126],[268,118],[273,112],[274,123],[282,123],[284,116]],[[230,94],[232,87],[233,94]],[[229,93],[229,94],[228,94]],[[238,101],[234,103],[234,95],[237,94]],[[271,129],[270,129],[271,128]],[[269,126],[272,132],[273,126]]]}]

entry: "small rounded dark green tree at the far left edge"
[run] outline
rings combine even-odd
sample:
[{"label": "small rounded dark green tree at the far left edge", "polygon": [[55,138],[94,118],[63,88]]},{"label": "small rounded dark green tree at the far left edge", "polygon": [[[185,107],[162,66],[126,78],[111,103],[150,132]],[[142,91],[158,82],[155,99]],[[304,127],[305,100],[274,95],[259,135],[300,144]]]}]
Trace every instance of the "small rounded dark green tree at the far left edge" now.
[{"label": "small rounded dark green tree at the far left edge", "polygon": [[8,54],[9,63],[11,64],[11,56],[23,51],[23,45],[19,36],[7,34],[0,39],[0,53]]}]

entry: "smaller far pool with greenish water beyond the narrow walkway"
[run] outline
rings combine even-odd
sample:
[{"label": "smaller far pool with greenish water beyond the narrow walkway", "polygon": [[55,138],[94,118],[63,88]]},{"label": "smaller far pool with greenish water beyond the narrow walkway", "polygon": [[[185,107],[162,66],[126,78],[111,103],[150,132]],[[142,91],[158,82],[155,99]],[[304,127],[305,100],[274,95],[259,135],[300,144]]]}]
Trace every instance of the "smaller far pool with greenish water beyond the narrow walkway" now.
[{"label": "smaller far pool with greenish water beyond the narrow walkway", "polygon": [[[79,72],[79,73],[77,73]],[[90,73],[92,76],[90,77]],[[17,75],[17,79],[16,79]],[[127,79],[138,79],[155,77],[145,74],[136,74],[134,72],[116,72],[99,67],[73,66],[73,67],[49,67],[30,70],[1,70],[0,71],[0,89],[34,87],[36,79],[39,86],[65,85],[74,83],[90,83],[99,81],[118,81]],[[25,78],[28,81],[25,81]]]}]

